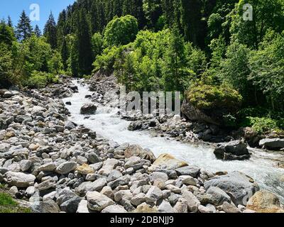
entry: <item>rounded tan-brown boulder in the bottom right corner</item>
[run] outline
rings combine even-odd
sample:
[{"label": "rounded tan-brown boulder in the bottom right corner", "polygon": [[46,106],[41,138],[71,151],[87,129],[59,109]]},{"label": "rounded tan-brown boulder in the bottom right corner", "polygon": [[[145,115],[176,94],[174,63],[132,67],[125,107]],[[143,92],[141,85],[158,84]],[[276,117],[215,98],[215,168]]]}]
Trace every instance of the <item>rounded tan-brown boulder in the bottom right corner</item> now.
[{"label": "rounded tan-brown boulder in the bottom right corner", "polygon": [[251,209],[257,213],[284,213],[278,197],[266,190],[256,192],[246,204],[246,209]]}]

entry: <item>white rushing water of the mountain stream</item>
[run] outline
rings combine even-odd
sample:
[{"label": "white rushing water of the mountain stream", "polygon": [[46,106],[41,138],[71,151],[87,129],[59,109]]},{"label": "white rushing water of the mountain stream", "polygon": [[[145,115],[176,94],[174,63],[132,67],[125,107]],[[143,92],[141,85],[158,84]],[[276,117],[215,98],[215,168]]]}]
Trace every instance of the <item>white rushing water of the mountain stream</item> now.
[{"label": "white rushing water of the mountain stream", "polygon": [[97,114],[85,119],[80,114],[80,108],[88,102],[84,96],[92,94],[86,85],[74,82],[79,89],[72,97],[63,101],[71,101],[69,109],[70,120],[82,124],[87,128],[96,131],[104,138],[114,140],[116,143],[131,143],[141,145],[143,148],[150,148],[156,157],[162,153],[169,153],[180,160],[184,160],[190,165],[204,167],[204,169],[217,172],[231,172],[238,170],[253,177],[261,188],[277,194],[281,201],[284,201],[284,182],[280,182],[280,176],[284,175],[284,170],[275,167],[275,160],[279,160],[283,155],[279,153],[268,153],[263,150],[251,149],[251,158],[244,161],[222,161],[214,156],[213,149],[206,145],[192,145],[167,140],[166,138],[153,137],[147,131],[128,131],[129,121],[122,120],[116,115],[118,109],[98,106]]}]

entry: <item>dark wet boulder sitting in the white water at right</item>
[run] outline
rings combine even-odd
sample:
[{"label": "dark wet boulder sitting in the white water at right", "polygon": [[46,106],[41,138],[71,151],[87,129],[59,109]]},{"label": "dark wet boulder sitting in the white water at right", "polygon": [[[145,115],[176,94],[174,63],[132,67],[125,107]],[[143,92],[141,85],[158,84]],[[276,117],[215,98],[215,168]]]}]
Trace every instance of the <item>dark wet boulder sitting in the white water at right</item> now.
[{"label": "dark wet boulder sitting in the white water at right", "polygon": [[241,140],[218,144],[214,154],[222,160],[246,160],[250,157],[246,143]]}]

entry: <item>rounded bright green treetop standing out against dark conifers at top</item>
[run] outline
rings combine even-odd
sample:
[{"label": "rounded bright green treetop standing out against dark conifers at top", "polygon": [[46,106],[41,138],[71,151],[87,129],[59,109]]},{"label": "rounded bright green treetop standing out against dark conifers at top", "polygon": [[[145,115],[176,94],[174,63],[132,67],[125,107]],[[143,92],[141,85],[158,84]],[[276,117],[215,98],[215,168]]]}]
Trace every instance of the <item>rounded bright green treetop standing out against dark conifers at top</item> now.
[{"label": "rounded bright green treetop standing out against dark conifers at top", "polygon": [[104,45],[126,45],[131,43],[138,33],[137,19],[131,15],[114,17],[104,31]]}]

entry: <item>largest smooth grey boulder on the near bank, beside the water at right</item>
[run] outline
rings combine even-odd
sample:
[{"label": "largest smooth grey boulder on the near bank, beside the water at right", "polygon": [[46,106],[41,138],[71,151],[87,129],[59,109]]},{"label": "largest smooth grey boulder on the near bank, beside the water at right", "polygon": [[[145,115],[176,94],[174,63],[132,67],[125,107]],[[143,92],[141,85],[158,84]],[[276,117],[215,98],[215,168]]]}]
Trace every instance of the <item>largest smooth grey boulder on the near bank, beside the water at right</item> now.
[{"label": "largest smooth grey boulder on the near bank, beside the water at right", "polygon": [[238,171],[209,179],[204,183],[204,189],[209,187],[219,187],[236,205],[246,205],[249,198],[259,190],[258,184],[251,177]]}]

